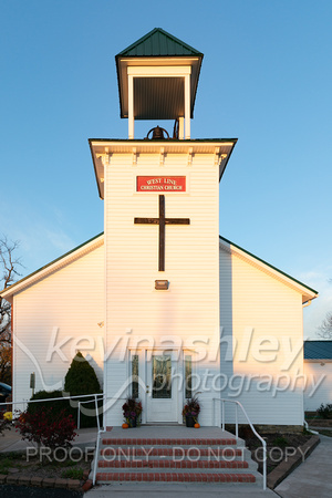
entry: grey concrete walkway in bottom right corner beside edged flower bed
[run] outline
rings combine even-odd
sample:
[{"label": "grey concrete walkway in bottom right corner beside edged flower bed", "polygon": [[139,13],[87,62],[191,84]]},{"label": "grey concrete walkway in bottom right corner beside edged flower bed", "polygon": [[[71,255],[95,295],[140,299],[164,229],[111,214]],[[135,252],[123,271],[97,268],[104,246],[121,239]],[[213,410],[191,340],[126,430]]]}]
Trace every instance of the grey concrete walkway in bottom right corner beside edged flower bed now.
[{"label": "grey concrete walkway in bottom right corner beside edged flower bed", "polygon": [[282,498],[332,497],[332,437],[320,436],[321,443],[276,491]]}]

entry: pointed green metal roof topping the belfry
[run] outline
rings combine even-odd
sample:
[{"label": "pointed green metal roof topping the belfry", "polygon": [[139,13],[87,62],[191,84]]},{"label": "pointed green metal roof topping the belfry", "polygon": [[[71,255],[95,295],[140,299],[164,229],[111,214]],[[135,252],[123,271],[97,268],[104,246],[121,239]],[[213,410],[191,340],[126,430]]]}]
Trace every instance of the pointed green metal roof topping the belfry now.
[{"label": "pointed green metal roof topping the belfry", "polygon": [[183,42],[162,28],[155,28],[120,52],[116,58],[203,56],[201,52]]}]

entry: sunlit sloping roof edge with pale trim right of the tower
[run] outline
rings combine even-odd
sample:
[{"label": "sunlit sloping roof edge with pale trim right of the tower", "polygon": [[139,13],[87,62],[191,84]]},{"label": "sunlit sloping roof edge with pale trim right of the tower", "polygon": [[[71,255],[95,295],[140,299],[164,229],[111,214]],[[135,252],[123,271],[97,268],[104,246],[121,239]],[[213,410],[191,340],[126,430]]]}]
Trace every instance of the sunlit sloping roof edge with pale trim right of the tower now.
[{"label": "sunlit sloping roof edge with pale trim right of the tower", "polygon": [[307,303],[311,301],[312,299],[315,299],[318,297],[318,291],[305,286],[305,283],[300,282],[300,280],[294,279],[288,273],[284,273],[284,271],[279,270],[279,268],[273,267],[272,264],[268,263],[261,258],[258,258],[257,256],[252,255],[251,252],[247,251],[246,249],[241,248],[240,246],[231,242],[230,240],[226,239],[225,237],[219,236],[219,242],[224,246],[224,248],[229,251],[234,252],[240,258],[247,260],[250,263],[253,263],[253,266],[260,268],[266,273],[269,273],[270,276],[273,276],[278,280],[282,281],[283,283],[287,283],[289,287],[295,289],[297,291],[300,291],[302,293],[302,303]]}]

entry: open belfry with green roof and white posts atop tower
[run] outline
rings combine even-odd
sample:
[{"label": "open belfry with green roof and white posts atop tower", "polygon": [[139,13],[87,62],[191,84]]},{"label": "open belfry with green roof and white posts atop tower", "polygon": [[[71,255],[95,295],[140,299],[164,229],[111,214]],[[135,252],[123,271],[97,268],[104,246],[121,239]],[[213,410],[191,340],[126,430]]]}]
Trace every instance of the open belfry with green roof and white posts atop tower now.
[{"label": "open belfry with green roof and white posts atop tower", "polygon": [[128,118],[128,138],[134,138],[135,120],[179,120],[179,138],[190,138],[203,56],[160,28],[115,56],[121,117]]}]

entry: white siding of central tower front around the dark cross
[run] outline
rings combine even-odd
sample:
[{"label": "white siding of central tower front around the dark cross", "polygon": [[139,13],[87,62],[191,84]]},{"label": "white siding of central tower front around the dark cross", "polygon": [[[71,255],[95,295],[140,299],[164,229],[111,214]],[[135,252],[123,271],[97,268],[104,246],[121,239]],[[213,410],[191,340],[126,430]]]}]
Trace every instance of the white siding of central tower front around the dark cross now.
[{"label": "white siding of central tower front around the dark cross", "polygon": [[[218,166],[212,154],[196,155],[190,166],[186,154],[159,162],[157,155],[139,155],[133,166],[132,155],[113,154],[106,168],[107,347],[121,340],[106,366],[110,397],[126,396],[126,345],[139,338],[160,345],[169,335],[183,344],[199,336],[208,339],[208,351],[218,341]],[[164,272],[158,272],[158,226],[134,225],[134,217],[158,217],[158,194],[136,194],[136,175],[187,176],[187,194],[165,194],[166,217],[190,218],[190,225],[166,226]],[[168,280],[169,291],[154,290],[156,279]],[[207,366],[218,372],[218,359],[197,369]],[[207,397],[200,422],[211,425],[211,393],[200,396]],[[120,405],[110,411],[107,425],[122,423]]]}]

